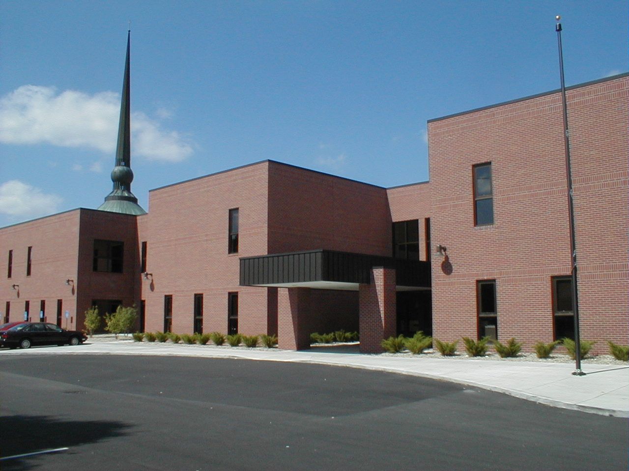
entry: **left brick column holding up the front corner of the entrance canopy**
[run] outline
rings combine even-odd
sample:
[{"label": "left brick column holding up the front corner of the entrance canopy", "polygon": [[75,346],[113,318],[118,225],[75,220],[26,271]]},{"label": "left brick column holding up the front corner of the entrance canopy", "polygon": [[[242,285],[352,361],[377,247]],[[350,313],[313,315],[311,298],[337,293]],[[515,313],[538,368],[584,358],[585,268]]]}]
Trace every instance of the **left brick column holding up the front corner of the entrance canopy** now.
[{"label": "left brick column holding up the front corner of the entrance canopy", "polygon": [[277,347],[286,350],[310,348],[310,289],[277,289]]}]

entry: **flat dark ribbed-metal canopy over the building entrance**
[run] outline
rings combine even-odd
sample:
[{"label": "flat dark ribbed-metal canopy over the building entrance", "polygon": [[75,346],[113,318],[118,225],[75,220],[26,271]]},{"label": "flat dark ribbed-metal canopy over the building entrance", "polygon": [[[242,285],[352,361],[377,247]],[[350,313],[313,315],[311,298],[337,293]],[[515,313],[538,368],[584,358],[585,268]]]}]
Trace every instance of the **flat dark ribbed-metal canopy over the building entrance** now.
[{"label": "flat dark ribbed-metal canopy over the building entrance", "polygon": [[240,285],[358,291],[374,267],[395,269],[397,291],[430,290],[428,262],[323,249],[243,257]]}]

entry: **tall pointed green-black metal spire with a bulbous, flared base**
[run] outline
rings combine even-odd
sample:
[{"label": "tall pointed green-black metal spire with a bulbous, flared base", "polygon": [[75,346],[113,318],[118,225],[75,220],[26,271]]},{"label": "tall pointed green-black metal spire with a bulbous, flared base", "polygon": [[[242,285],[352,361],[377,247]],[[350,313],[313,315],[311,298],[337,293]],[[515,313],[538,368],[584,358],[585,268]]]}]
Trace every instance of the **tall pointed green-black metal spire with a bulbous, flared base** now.
[{"label": "tall pointed green-black metal spire with a bulbous, flared base", "polygon": [[122,102],[120,104],[120,122],[118,124],[118,146],[116,147],[116,166],[111,171],[113,190],[105,197],[99,207],[101,211],[124,214],[146,214],[138,205],[138,198],[131,193],[131,80],[130,80],[130,44],[131,30],[126,36],[125,79],[122,86]]}]

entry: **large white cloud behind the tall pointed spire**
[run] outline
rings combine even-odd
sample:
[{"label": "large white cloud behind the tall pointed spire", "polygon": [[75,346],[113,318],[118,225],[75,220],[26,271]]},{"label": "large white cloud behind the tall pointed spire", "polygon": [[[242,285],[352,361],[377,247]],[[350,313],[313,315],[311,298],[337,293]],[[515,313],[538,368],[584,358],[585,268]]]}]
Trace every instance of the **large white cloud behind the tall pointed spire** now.
[{"label": "large white cloud behind the tall pointed spire", "polygon": [[[120,95],[114,92],[57,93],[54,87],[23,85],[0,99],[0,142],[89,147],[112,154],[119,117]],[[142,112],[131,114],[132,156],[179,162],[191,153],[190,144],[175,131],[164,131]]]}]

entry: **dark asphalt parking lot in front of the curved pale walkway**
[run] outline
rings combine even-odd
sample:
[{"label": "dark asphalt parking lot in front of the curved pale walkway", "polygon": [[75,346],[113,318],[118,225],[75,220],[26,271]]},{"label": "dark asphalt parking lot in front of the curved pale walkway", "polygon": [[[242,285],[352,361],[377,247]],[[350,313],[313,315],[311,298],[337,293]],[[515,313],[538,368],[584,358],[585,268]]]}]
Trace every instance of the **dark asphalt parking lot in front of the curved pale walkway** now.
[{"label": "dark asphalt parking lot in front of the curved pale walkway", "polygon": [[4,470],[626,469],[626,420],[327,365],[4,355]]}]

